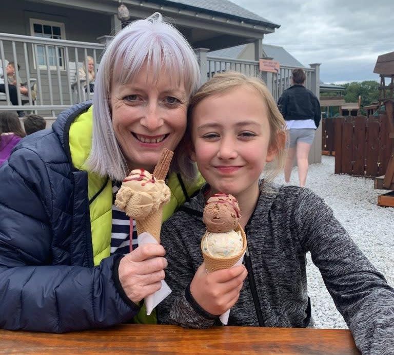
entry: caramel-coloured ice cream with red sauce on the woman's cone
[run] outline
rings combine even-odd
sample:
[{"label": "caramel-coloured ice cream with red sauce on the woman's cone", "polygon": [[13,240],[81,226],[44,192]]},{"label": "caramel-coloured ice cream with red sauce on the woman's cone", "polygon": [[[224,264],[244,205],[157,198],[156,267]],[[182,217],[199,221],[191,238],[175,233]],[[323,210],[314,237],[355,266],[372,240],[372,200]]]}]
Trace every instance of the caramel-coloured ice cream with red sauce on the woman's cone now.
[{"label": "caramel-coloured ice cream with red sauce on the woman's cone", "polygon": [[167,203],[170,195],[164,180],[156,180],[149,172],[136,169],[123,180],[116,194],[115,205],[130,218],[143,219]]}]

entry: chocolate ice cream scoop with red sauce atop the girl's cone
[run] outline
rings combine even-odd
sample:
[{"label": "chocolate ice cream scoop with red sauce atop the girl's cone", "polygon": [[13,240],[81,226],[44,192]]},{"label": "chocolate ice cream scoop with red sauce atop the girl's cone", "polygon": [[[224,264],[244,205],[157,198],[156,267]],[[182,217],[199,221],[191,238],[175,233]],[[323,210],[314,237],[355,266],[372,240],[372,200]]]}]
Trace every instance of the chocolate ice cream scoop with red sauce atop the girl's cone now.
[{"label": "chocolate ice cream scoop with red sauce atop the girl's cone", "polygon": [[229,194],[211,196],[204,208],[203,221],[210,232],[228,232],[238,226],[241,211],[237,199]]}]

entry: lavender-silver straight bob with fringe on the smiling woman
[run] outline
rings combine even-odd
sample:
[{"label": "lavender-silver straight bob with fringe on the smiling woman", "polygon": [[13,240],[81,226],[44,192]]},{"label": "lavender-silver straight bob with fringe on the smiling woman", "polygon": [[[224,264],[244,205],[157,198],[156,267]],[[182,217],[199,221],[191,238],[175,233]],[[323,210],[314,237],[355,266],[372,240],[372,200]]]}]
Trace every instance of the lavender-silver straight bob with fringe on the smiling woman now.
[{"label": "lavender-silver straight bob with fringe on the smiling woman", "polygon": [[[184,36],[162,15],[154,13],[137,20],[117,33],[106,48],[95,79],[93,97],[93,135],[88,164],[100,176],[123,180],[128,167],[112,128],[110,92],[116,81],[126,84],[147,63],[154,76],[165,68],[171,79],[184,83],[190,97],[200,83],[200,69],[195,54]],[[172,169],[178,170],[176,158]]]}]

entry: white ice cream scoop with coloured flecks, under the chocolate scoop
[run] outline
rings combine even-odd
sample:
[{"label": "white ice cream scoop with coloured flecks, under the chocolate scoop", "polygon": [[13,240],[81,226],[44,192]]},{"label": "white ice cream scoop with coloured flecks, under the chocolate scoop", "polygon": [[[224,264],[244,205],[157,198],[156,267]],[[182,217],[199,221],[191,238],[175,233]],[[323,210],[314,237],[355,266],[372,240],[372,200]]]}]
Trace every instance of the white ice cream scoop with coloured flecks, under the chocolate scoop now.
[{"label": "white ice cream scoop with coloured flecks, under the chocolate scoop", "polygon": [[238,255],[243,247],[240,232],[207,232],[202,241],[202,251],[211,257],[228,258]]}]

